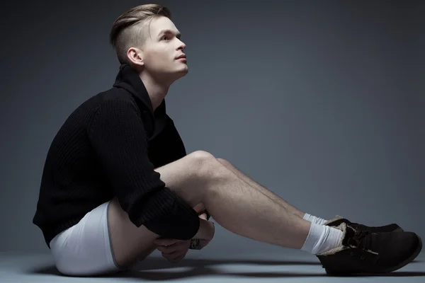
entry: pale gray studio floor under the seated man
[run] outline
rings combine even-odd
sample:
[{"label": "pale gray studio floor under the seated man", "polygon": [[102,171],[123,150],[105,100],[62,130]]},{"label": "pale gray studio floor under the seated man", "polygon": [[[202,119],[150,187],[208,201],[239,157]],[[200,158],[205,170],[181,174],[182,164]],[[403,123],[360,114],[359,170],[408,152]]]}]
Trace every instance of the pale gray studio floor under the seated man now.
[{"label": "pale gray studio floor under the seated man", "polygon": [[[402,278],[400,278],[402,277]],[[50,255],[0,253],[0,282],[425,282],[425,253],[379,277],[328,277],[317,258],[298,250],[213,257],[188,253],[173,265],[153,254],[135,270],[96,278],[63,277]]]}]

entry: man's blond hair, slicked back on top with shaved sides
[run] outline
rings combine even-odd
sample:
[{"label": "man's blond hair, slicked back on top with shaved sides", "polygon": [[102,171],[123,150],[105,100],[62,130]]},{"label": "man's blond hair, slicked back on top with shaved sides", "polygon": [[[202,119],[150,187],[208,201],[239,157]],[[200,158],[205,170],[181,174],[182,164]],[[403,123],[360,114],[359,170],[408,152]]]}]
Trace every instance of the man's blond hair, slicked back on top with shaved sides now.
[{"label": "man's blond hair, slicked back on top with shaved sides", "polygon": [[150,36],[150,23],[158,16],[171,19],[171,11],[158,4],[144,4],[130,8],[115,20],[109,41],[115,48],[121,64],[130,63],[127,57],[128,48],[143,45],[146,40],[146,33],[143,30],[146,27],[145,23],[149,21],[147,30]]}]

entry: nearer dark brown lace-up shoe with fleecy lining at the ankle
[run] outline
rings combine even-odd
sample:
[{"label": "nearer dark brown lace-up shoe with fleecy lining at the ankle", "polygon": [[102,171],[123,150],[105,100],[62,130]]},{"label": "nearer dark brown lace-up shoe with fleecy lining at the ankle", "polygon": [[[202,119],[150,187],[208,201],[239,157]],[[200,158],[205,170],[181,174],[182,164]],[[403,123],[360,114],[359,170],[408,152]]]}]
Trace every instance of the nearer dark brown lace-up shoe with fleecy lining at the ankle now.
[{"label": "nearer dark brown lace-up shoe with fleecy lining at the ankle", "polygon": [[317,254],[328,275],[365,275],[398,270],[421,252],[422,241],[412,232],[370,233],[347,226],[342,246]]}]

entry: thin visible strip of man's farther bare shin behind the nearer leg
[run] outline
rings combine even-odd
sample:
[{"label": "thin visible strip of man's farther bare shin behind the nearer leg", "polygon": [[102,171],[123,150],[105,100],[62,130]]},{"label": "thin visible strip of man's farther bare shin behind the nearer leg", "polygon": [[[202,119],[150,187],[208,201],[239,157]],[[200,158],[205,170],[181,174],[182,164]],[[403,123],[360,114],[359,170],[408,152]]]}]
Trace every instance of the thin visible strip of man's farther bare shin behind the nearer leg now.
[{"label": "thin visible strip of man's farther bare shin behind the nearer leg", "polygon": [[273,201],[278,202],[278,204],[280,204],[282,207],[285,207],[285,209],[287,209],[288,212],[295,214],[296,216],[298,216],[300,218],[304,217],[305,212],[302,212],[300,209],[297,209],[293,205],[291,205],[288,202],[286,202],[285,200],[283,200],[282,197],[279,197],[278,195],[276,195],[271,190],[266,189],[265,187],[263,187],[262,185],[260,185],[256,181],[249,178],[247,175],[245,175],[244,173],[239,171],[239,169],[237,169],[234,165],[232,165],[232,163],[229,163],[229,161],[227,161],[223,158],[217,158],[217,160],[220,161],[220,163],[222,163],[224,166],[226,166],[227,169],[232,171],[239,178],[244,180],[244,182],[249,183],[249,185],[251,185],[251,187],[254,187],[256,190],[259,190],[264,195],[270,197]]}]

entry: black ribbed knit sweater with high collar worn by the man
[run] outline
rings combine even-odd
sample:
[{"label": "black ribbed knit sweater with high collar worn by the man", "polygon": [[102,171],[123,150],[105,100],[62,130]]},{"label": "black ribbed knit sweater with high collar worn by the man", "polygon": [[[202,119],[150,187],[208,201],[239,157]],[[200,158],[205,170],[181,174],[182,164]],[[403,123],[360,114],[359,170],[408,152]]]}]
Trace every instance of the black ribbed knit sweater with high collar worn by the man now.
[{"label": "black ribbed knit sweater with high collar worn by the man", "polygon": [[165,100],[153,111],[142,80],[123,64],[112,88],[82,103],[53,139],[33,224],[50,248],[58,233],[118,197],[135,226],[163,238],[193,238],[198,214],[154,171],[183,156]]}]

